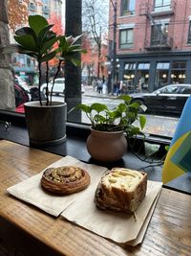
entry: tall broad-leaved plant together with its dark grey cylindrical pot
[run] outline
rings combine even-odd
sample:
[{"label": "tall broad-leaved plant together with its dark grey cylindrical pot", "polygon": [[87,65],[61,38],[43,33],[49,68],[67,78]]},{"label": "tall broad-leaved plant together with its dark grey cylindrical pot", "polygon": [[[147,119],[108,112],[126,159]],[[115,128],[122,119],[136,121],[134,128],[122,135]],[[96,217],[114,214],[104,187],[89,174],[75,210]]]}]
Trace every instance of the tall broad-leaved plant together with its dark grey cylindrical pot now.
[{"label": "tall broad-leaved plant together with its dark grey cylindrical pot", "polygon": [[[53,102],[53,87],[49,91],[50,80],[49,61],[58,59],[57,69],[53,77],[57,78],[63,61],[71,61],[74,65],[80,63],[74,58],[76,53],[85,52],[76,41],[81,37],[56,35],[53,24],[49,24],[41,15],[29,16],[29,27],[23,27],[15,32],[17,44],[5,46],[4,54],[20,53],[35,58],[38,63],[38,96],[39,101],[25,104],[26,122],[29,130],[30,144],[33,146],[54,145],[66,138],[66,103]],[[41,99],[42,63],[46,66],[46,101]]]}]

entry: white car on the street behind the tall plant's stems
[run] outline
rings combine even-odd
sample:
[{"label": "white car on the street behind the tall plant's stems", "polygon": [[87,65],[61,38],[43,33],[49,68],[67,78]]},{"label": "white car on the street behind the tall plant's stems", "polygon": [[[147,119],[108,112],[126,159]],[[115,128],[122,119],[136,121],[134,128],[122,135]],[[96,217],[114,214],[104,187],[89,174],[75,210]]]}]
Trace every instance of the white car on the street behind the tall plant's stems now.
[{"label": "white car on the street behind the tall plant's stems", "polygon": [[[41,85],[41,91],[46,94],[46,86],[47,83],[43,83]],[[53,85],[53,81],[49,82],[49,91],[51,92],[53,86],[53,94],[55,95],[59,95],[59,94],[64,94],[65,92],[65,79],[64,78],[60,78],[60,79],[55,79],[54,85]],[[81,93],[85,92],[85,88],[84,85],[81,84]]]}]

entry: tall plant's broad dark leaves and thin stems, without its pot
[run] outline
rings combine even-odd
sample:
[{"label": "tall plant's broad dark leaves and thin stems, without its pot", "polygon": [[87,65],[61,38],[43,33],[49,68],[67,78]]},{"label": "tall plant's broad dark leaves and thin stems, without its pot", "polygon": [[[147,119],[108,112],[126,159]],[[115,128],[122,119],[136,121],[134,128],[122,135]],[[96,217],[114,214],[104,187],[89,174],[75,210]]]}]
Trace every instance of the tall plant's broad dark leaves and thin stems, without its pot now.
[{"label": "tall plant's broad dark leaves and thin stems, without its pot", "polygon": [[[49,85],[49,61],[53,58],[58,58],[58,66],[53,77],[54,81],[57,78],[61,63],[65,60],[71,61],[74,65],[78,65],[80,61],[74,58],[76,53],[85,53],[84,49],[81,49],[79,44],[75,44],[76,41],[81,37],[56,35],[53,31],[53,24],[49,24],[47,19],[41,15],[30,15],[29,16],[29,27],[23,27],[15,32],[14,39],[17,44],[11,44],[3,47],[4,54],[20,53],[26,54],[32,58],[35,58],[38,62],[38,95],[39,102],[42,105],[41,100],[41,79],[42,79],[42,63],[46,63],[46,105],[52,105],[53,87],[51,94],[48,89]],[[50,94],[50,101],[49,101]]]}]

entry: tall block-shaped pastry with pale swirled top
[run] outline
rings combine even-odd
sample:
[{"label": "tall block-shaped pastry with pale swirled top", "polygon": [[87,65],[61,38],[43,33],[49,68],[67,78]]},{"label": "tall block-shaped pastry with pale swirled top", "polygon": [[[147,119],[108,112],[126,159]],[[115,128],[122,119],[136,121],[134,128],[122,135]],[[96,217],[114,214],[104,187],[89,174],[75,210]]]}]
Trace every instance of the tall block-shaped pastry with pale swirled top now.
[{"label": "tall block-shaped pastry with pale swirled top", "polygon": [[147,174],[125,168],[114,168],[103,175],[96,189],[98,208],[112,209],[127,214],[135,213],[145,197]]}]

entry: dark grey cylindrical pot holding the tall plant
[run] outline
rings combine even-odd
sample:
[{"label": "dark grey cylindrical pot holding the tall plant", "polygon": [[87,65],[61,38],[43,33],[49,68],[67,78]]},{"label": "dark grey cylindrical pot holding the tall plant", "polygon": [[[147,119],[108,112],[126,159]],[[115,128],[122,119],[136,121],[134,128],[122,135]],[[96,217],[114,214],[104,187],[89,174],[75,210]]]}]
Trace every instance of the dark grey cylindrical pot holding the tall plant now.
[{"label": "dark grey cylindrical pot holding the tall plant", "polygon": [[24,105],[27,128],[32,146],[52,146],[66,140],[66,107],[64,103],[40,105],[29,102]]}]

